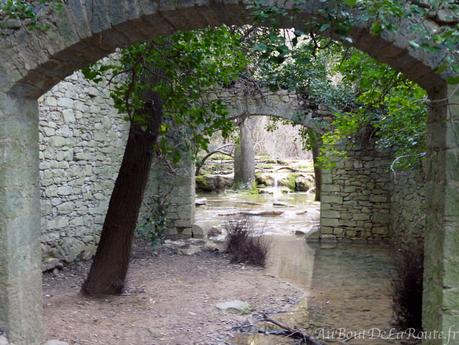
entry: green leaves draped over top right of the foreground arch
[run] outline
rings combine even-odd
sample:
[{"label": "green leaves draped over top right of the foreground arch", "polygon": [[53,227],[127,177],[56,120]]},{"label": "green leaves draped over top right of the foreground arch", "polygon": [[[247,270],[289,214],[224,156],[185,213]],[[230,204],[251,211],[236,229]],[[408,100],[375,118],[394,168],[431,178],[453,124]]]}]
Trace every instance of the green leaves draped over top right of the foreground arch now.
[{"label": "green leaves draped over top right of the foreground arch", "polygon": [[[409,23],[416,35],[413,49],[442,52],[439,73],[448,72],[451,83],[459,83],[457,64],[459,47],[459,3],[457,0],[321,0],[326,6],[315,8],[316,16],[308,18],[305,32],[330,35],[345,44],[353,43],[349,33],[355,26],[367,26],[373,35],[383,31],[403,32]],[[308,6],[307,0],[294,0],[294,7]],[[258,23],[279,28],[299,10],[286,11],[276,3],[253,0],[250,6]],[[292,21],[293,22],[293,21]],[[282,24],[281,24],[282,23]]]}]

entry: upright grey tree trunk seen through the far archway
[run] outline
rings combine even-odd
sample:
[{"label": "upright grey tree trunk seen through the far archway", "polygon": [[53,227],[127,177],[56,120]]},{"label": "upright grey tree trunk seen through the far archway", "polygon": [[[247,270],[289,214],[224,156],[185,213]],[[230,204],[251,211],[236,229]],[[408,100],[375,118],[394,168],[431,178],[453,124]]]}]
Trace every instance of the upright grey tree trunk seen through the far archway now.
[{"label": "upright grey tree trunk seen through the far archway", "polygon": [[239,143],[234,151],[234,187],[250,187],[254,179],[255,151],[247,119],[244,119],[239,124]]}]

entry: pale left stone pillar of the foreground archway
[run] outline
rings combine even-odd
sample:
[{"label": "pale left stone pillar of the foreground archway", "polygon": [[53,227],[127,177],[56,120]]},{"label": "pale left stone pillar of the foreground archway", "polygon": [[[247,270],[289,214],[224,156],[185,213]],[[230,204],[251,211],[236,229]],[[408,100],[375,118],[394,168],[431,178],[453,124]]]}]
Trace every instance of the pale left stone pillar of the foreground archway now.
[{"label": "pale left stone pillar of the foreground archway", "polygon": [[0,94],[0,329],[14,345],[42,342],[36,100]]}]

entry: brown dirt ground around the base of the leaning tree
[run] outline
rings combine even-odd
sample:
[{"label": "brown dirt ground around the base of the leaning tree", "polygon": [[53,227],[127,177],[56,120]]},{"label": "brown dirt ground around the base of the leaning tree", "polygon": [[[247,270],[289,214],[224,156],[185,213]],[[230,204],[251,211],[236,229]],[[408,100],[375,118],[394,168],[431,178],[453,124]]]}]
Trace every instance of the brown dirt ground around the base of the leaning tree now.
[{"label": "brown dirt ground around the base of the leaning tree", "polygon": [[254,313],[295,308],[304,292],[262,269],[229,264],[212,253],[134,255],[123,296],[93,300],[79,294],[88,264],[44,278],[48,339],[81,345],[231,344],[233,327],[250,315],[225,314],[216,304],[250,303]]}]

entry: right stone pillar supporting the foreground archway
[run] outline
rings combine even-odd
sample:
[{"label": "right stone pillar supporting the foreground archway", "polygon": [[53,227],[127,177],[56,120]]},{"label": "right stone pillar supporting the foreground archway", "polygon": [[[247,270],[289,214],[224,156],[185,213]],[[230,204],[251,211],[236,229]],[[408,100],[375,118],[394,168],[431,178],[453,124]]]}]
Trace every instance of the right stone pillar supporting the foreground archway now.
[{"label": "right stone pillar supporting the foreground archway", "polygon": [[459,344],[459,96],[454,89],[430,95],[423,306],[425,330],[444,336],[458,332],[449,344]]}]

